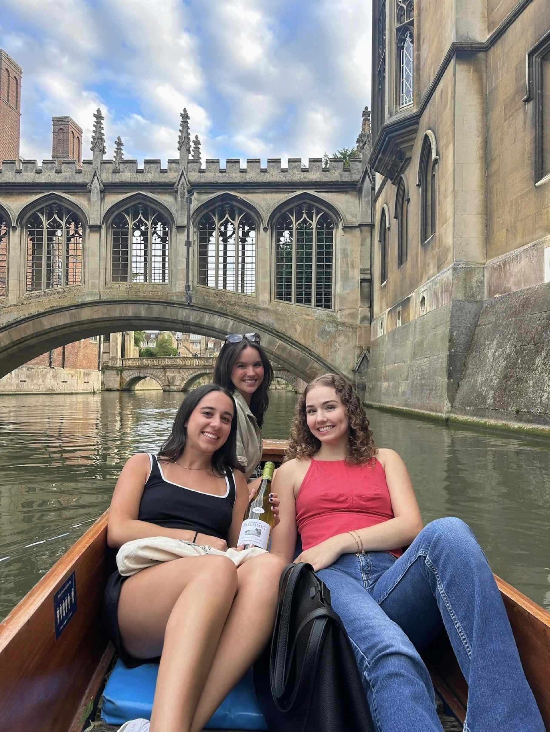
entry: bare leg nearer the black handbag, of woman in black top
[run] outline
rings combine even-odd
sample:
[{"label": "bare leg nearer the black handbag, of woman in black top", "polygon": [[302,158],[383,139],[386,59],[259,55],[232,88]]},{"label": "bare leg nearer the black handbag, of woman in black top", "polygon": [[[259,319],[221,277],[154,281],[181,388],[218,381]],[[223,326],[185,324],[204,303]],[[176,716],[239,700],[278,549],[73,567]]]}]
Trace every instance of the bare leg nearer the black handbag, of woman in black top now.
[{"label": "bare leg nearer the black handbag, of woman in black top", "polygon": [[268,642],[275,621],[279,578],[285,564],[273,554],[263,554],[238,568],[237,596],[197,704],[192,732],[203,729]]}]

